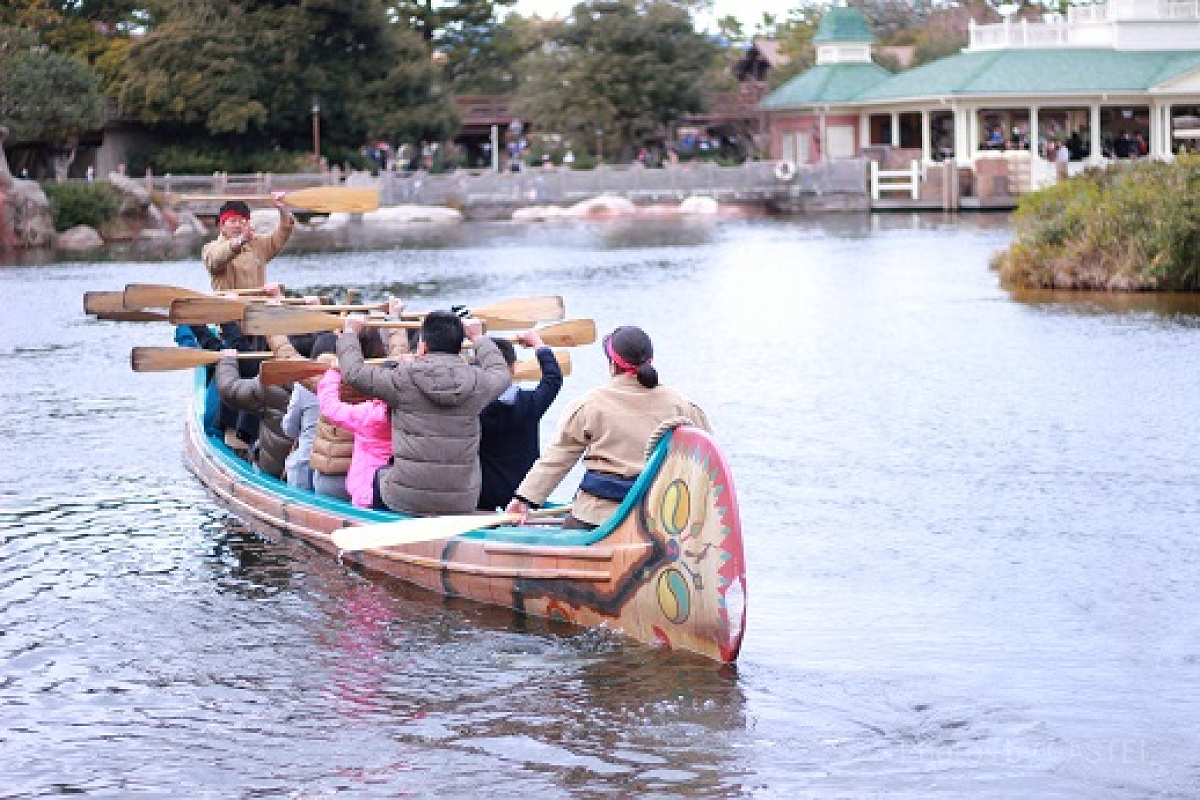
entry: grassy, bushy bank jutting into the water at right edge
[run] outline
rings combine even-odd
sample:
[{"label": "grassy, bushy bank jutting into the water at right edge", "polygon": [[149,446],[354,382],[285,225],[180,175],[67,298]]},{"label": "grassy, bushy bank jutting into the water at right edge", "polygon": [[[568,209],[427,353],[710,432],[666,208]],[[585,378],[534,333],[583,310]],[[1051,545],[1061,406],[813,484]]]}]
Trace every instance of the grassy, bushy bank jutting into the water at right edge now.
[{"label": "grassy, bushy bank jutting into the water at right edge", "polygon": [[991,265],[1013,288],[1200,290],[1200,156],[1091,169],[1022,198]]}]

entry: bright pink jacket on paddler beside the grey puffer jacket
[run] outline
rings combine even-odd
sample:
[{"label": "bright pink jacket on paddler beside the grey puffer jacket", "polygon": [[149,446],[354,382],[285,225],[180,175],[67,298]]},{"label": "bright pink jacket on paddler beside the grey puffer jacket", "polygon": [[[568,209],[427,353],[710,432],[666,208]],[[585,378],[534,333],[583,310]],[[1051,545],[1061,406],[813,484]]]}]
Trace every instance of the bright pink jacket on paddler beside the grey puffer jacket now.
[{"label": "bright pink jacket on paddler beside the grey puffer jacket", "polygon": [[391,458],[391,421],[388,404],[374,397],[364,403],[343,403],[338,395],[342,373],[329,369],[317,384],[320,415],[354,434],[350,469],[346,473],[346,491],[350,501],[370,509],[373,503],[376,470]]}]

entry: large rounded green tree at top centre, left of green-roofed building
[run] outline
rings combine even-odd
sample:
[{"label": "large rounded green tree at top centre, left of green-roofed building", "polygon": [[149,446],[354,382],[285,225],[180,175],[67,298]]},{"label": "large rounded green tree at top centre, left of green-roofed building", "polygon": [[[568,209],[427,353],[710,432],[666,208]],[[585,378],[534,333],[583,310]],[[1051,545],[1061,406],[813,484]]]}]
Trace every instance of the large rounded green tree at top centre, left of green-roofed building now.
[{"label": "large rounded green tree at top centre, left of green-roofed building", "polygon": [[[527,61],[520,104],[542,126],[590,142],[602,131],[623,161],[704,108],[716,44],[667,0],[589,0],[547,28]],[[599,137],[598,137],[599,138]]]}]

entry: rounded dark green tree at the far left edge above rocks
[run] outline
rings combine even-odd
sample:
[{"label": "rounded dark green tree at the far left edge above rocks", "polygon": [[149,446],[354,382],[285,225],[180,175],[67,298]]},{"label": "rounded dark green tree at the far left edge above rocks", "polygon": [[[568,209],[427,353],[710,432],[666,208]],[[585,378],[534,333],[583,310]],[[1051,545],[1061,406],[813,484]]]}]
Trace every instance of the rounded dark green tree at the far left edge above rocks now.
[{"label": "rounded dark green tree at the far left edge above rocks", "polygon": [[0,28],[0,120],[13,144],[36,144],[66,180],[79,134],[104,122],[100,78],[79,59],[55,53],[37,36]]}]

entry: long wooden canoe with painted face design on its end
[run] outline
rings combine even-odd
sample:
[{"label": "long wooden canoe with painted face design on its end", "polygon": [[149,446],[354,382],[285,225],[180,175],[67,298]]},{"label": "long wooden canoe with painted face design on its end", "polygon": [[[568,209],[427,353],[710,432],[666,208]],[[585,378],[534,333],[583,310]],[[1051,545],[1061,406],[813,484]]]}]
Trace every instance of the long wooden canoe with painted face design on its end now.
[{"label": "long wooden canoe with painted face design on its end", "polygon": [[187,415],[186,459],[218,505],[268,536],[294,536],[346,564],[520,614],[605,627],[720,662],[745,628],[745,558],[725,457],[704,431],[679,427],[606,524],[475,530],[450,539],[340,553],[341,528],[403,521],[296,489],[257,471],[202,423],[204,369]]}]

